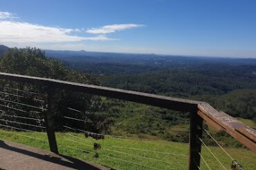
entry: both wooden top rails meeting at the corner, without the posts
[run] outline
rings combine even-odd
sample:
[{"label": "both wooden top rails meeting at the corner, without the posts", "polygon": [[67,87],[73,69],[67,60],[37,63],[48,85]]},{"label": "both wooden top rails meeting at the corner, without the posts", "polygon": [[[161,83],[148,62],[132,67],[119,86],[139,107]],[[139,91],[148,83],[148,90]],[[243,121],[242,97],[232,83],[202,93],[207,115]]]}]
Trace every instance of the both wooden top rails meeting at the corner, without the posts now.
[{"label": "both wooden top rails meeting at the corner, without the posts", "polygon": [[97,85],[86,85],[82,83],[73,83],[68,81],[58,81],[51,78],[39,78],[34,76],[23,76],[19,74],[8,74],[0,72],[0,78],[17,81],[22,83],[31,83],[34,85],[46,85],[54,88],[68,89],[86,94],[107,96],[121,100],[129,100],[136,103],[153,105],[177,111],[196,112],[209,125],[217,129],[223,129],[236,140],[244,144],[250,150],[256,153],[256,131],[228,114],[217,111],[208,103],[187,100],[181,98],[172,98],[167,96],[158,96],[155,94],[146,94],[124,89],[113,89]]}]

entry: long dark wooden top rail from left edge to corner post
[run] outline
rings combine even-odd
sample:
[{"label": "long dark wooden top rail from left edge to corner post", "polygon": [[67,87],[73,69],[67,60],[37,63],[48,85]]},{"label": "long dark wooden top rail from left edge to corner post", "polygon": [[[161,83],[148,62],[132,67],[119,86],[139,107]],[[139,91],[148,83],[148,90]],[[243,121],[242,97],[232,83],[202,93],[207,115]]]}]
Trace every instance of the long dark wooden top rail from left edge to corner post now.
[{"label": "long dark wooden top rail from left edge to corner post", "polygon": [[23,83],[47,85],[60,89],[84,92],[86,94],[95,94],[99,96],[107,96],[110,98],[129,100],[136,103],[143,103],[146,105],[153,105],[177,111],[196,111],[197,105],[200,103],[199,101],[194,100],[172,98],[167,96],[159,96],[155,94],[146,94],[142,92],[134,92],[124,89],[114,89],[110,87],[101,87],[97,85],[86,85],[82,83],[58,81],[51,78],[39,78],[34,76],[23,76],[19,74],[8,74],[3,72],[0,72],[0,78]]}]

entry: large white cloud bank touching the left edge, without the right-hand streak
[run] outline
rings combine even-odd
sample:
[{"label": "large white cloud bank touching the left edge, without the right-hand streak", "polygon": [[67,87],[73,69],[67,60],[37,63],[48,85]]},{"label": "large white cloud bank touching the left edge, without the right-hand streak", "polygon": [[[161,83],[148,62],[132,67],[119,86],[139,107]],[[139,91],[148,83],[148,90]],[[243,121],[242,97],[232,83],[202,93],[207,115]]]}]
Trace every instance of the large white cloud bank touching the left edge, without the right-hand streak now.
[{"label": "large white cloud bank touching the left edge, without the right-hand streak", "polygon": [[0,43],[57,43],[75,41],[107,41],[107,36],[92,37],[71,35],[77,29],[56,28],[33,23],[0,21]]}]

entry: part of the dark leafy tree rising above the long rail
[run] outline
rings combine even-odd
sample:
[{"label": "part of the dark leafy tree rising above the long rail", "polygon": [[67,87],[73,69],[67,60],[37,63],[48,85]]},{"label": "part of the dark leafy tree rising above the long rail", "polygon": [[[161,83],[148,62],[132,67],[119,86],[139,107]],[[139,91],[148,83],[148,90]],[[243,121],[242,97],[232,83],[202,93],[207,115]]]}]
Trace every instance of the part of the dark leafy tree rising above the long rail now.
[{"label": "part of the dark leafy tree rising above the long rail", "polygon": [[37,48],[10,48],[0,59],[0,71],[55,78],[64,81],[98,84],[95,77],[75,72],[56,59],[46,58],[44,51]]}]

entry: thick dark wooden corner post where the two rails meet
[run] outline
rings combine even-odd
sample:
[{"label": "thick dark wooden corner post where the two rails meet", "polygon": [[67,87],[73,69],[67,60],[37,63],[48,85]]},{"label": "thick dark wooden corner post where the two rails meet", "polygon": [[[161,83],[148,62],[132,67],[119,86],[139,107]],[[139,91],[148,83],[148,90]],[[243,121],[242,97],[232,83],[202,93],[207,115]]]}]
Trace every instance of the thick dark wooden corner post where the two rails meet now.
[{"label": "thick dark wooden corner post where the two rails meet", "polygon": [[201,141],[203,132],[203,119],[196,113],[190,113],[190,158],[189,158],[189,170],[199,170],[200,167],[200,155],[201,153]]}]

